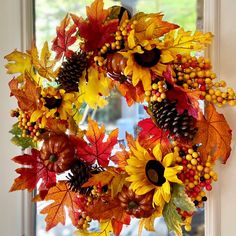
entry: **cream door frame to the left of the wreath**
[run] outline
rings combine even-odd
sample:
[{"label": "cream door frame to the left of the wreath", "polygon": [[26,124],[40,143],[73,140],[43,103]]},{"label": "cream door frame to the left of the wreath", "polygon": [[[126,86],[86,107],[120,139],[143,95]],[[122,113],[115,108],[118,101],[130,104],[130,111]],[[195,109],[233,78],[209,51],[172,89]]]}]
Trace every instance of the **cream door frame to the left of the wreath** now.
[{"label": "cream door frame to the left of the wreath", "polygon": [[33,236],[29,231],[33,220],[29,215],[32,208],[28,203],[29,194],[8,192],[17,176],[14,171],[17,165],[11,158],[19,155],[19,148],[10,142],[9,130],[16,120],[10,118],[9,111],[16,107],[16,103],[14,98],[9,97],[11,76],[6,75],[6,60],[3,58],[14,49],[25,50],[29,45],[32,36],[31,6],[31,0],[1,0],[0,7],[0,235],[4,236]]}]

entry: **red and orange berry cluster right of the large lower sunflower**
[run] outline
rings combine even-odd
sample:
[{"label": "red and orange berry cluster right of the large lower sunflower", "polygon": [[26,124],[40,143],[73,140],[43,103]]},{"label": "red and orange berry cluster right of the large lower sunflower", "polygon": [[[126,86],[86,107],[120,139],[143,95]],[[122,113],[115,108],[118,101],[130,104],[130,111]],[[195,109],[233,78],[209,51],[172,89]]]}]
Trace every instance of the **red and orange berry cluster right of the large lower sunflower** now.
[{"label": "red and orange berry cluster right of the large lower sunflower", "polygon": [[[179,149],[179,147],[175,147],[175,149]],[[214,162],[210,156],[204,162],[197,152],[196,146],[187,150],[179,149],[179,157],[176,161],[183,166],[178,177],[185,184],[186,193],[195,206],[201,207],[202,203],[207,200],[204,190],[211,191],[212,180],[217,180],[217,174],[213,170]]]}]

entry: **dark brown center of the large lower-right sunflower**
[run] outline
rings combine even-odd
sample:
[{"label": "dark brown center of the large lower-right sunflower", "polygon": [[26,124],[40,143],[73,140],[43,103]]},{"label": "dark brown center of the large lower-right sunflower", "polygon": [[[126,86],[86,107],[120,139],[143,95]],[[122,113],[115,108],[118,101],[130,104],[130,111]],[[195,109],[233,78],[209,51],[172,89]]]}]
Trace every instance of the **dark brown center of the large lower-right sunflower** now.
[{"label": "dark brown center of the large lower-right sunflower", "polygon": [[145,167],[145,172],[148,180],[156,186],[162,186],[162,184],[166,182],[164,171],[164,166],[156,160],[148,161]]}]

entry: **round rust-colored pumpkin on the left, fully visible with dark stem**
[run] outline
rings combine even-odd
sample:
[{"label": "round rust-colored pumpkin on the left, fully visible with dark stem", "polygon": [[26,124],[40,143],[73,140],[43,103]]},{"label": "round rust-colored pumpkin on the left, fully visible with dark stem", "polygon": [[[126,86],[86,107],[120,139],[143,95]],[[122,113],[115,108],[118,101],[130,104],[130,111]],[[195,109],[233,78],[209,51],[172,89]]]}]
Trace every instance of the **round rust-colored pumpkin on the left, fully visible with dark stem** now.
[{"label": "round rust-colored pumpkin on the left, fully visible with dark stem", "polygon": [[50,134],[40,150],[40,158],[49,171],[62,173],[75,161],[75,148],[66,134]]}]

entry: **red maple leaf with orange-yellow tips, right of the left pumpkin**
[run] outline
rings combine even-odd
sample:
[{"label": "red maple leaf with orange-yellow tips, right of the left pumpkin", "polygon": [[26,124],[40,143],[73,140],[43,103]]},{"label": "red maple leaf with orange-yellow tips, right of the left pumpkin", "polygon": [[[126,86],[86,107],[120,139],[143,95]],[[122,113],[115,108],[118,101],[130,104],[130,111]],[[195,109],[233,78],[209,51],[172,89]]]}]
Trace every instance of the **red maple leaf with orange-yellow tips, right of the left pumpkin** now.
[{"label": "red maple leaf with orange-yellow tips, right of the left pumpkin", "polygon": [[109,163],[109,158],[111,156],[111,151],[114,145],[117,143],[118,129],[113,130],[105,138],[105,126],[102,125],[101,128],[92,119],[88,122],[88,130],[86,131],[85,138],[89,143],[84,141],[84,139],[79,139],[77,141],[77,154],[80,159],[83,159],[89,164],[98,162],[102,167],[106,167]]}]

